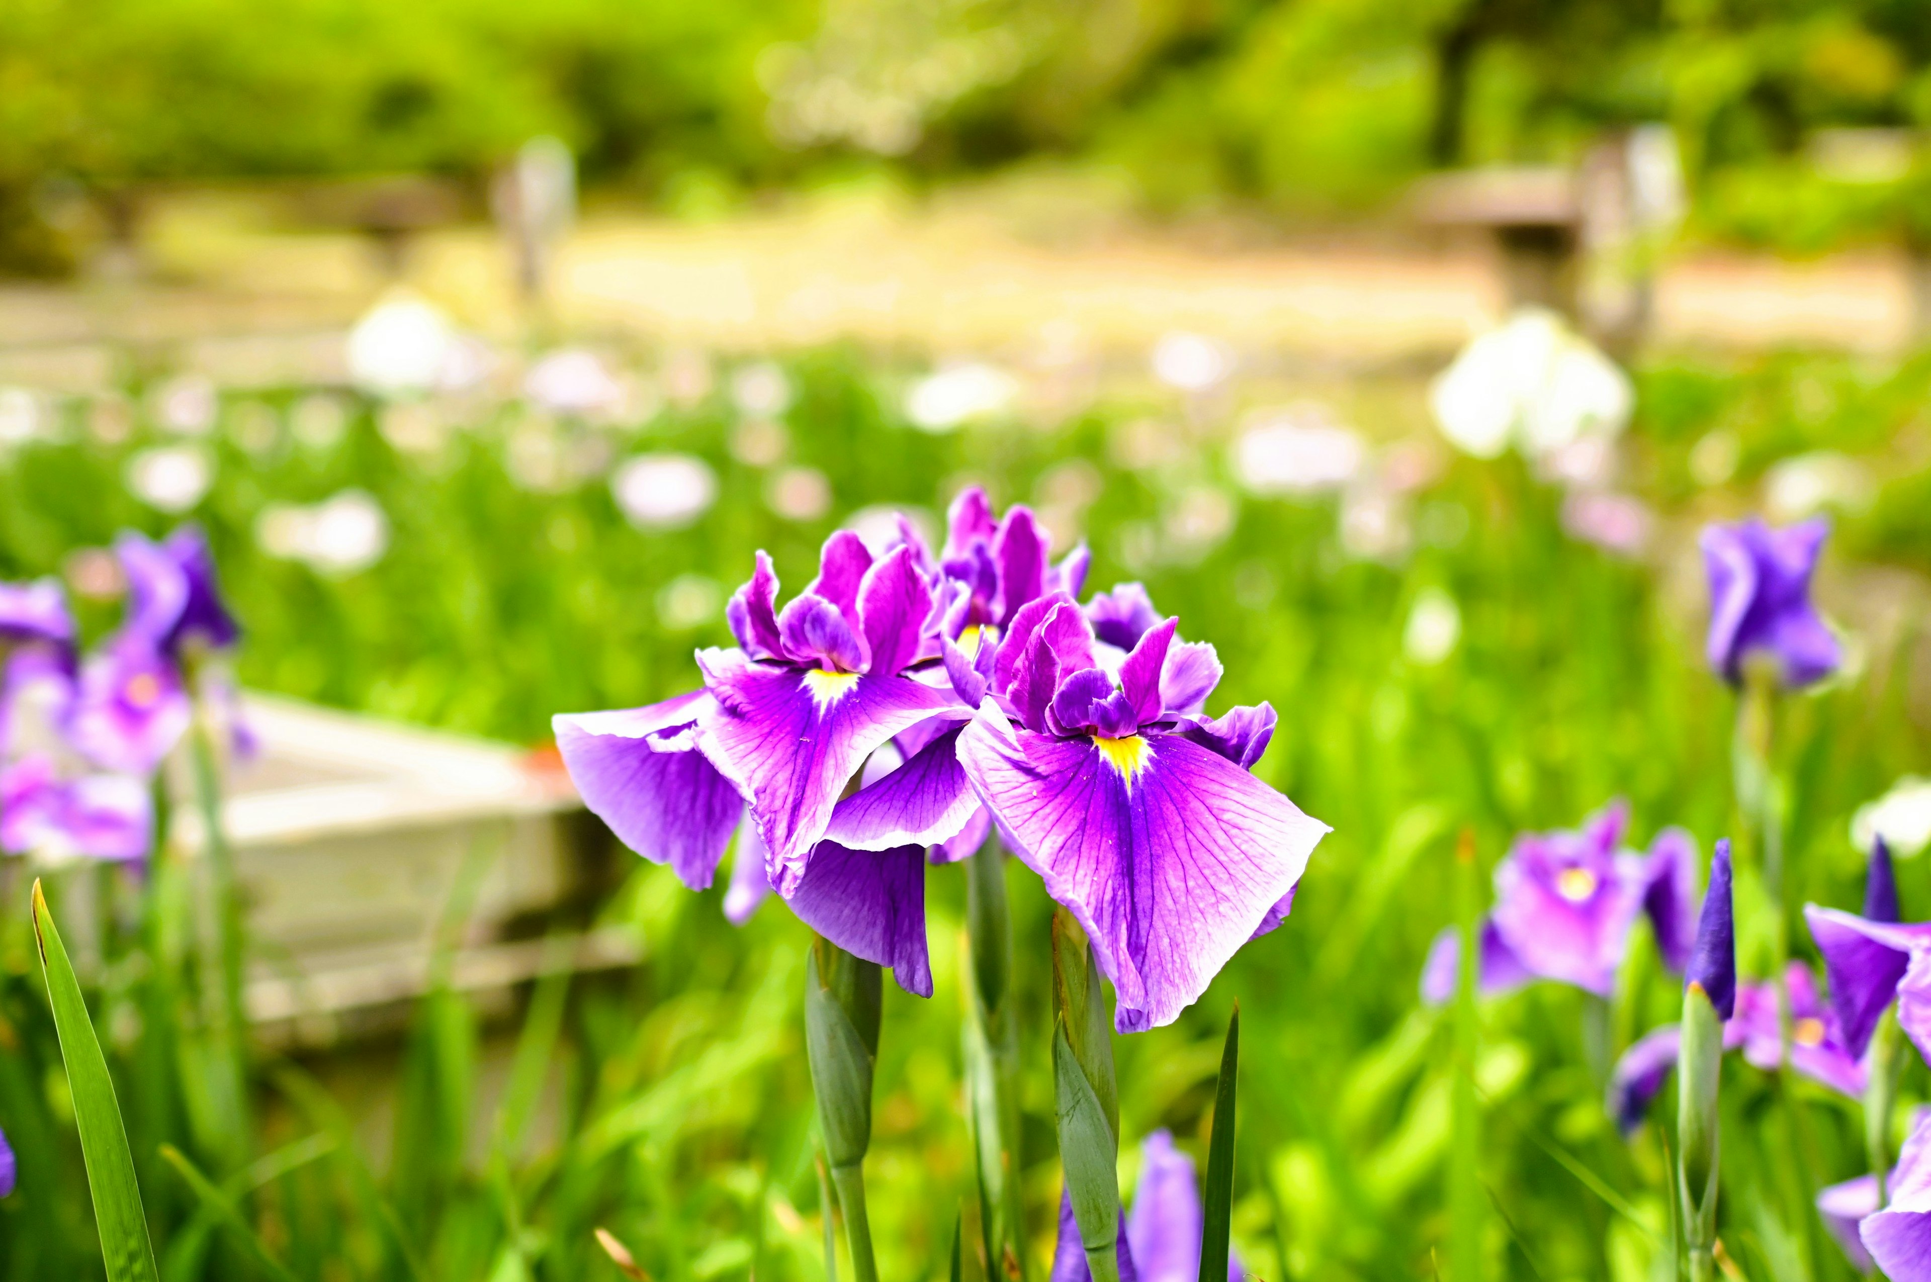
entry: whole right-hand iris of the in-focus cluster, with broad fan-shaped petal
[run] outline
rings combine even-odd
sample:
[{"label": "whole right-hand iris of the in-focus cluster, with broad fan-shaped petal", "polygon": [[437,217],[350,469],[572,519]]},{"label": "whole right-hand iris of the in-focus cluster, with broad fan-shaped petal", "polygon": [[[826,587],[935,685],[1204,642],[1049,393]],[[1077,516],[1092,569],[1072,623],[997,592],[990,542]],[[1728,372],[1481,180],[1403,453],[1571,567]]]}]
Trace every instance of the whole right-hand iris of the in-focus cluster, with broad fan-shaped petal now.
[{"label": "whole right-hand iris of the in-focus cluster, with broad fan-shaped petal", "polygon": [[1170,1023],[1273,919],[1329,826],[1249,774],[1269,705],[1220,720],[1168,707],[1174,620],[1108,674],[1064,593],[1023,606],[996,655],[946,670],[979,707],[958,757],[1006,848],[1093,942],[1114,1027]]}]

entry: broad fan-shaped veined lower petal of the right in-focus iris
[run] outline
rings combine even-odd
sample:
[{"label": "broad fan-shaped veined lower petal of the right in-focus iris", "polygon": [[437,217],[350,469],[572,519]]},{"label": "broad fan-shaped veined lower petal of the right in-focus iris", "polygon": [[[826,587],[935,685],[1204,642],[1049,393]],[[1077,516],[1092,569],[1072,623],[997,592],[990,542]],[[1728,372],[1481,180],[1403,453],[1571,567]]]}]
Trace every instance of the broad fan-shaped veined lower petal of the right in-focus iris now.
[{"label": "broad fan-shaped veined lower petal of the right in-focus iris", "polygon": [[960,759],[1012,853],[1093,940],[1133,1033],[1172,1019],[1301,878],[1327,824],[1176,736],[1058,739],[985,712]]}]

